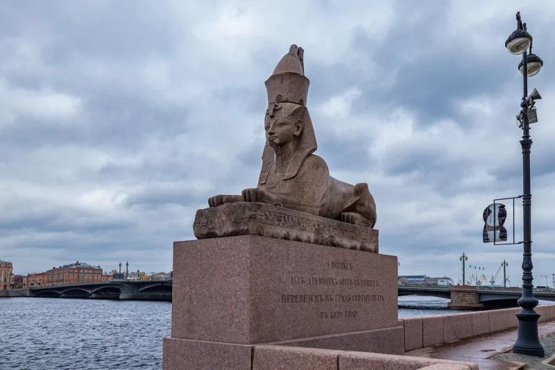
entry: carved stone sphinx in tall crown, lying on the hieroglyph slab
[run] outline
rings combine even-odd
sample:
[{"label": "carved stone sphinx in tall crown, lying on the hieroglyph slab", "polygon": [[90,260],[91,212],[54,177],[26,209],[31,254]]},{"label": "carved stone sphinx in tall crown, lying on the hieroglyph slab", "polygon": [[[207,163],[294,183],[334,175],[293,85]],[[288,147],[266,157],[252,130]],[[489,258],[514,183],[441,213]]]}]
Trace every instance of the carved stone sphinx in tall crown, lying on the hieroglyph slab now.
[{"label": "carved stone sphinx in tall crown, lying on the hieroglyph slab", "polygon": [[307,109],[309,79],[303,50],[291,45],[266,80],[266,145],[257,187],[241,195],[216,195],[210,207],[259,202],[373,228],[376,205],[368,184],[350,185],[330,176],[316,151],[316,135]]}]

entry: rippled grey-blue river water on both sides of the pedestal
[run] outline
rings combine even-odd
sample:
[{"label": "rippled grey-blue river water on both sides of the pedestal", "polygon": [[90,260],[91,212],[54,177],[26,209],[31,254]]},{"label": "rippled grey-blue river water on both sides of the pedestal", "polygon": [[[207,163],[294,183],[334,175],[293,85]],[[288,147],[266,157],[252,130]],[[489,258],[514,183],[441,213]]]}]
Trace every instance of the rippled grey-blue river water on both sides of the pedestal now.
[{"label": "rippled grey-blue river water on both sides of the pedestal", "polygon": [[[448,302],[402,296],[399,317],[456,312]],[[0,298],[0,370],[161,369],[170,330],[169,302]]]}]

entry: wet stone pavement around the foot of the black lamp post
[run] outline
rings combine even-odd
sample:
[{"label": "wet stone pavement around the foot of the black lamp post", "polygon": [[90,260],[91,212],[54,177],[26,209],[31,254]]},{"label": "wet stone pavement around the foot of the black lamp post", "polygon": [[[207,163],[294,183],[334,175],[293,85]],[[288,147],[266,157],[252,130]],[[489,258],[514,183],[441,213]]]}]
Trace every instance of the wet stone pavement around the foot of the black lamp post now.
[{"label": "wet stone pavement around the foot of the black lamp post", "polygon": [[418,348],[406,352],[405,355],[475,362],[480,369],[555,369],[555,366],[542,363],[555,353],[555,322],[538,325],[540,341],[545,348],[545,358],[511,353],[517,333],[517,329],[506,330],[438,346]]}]

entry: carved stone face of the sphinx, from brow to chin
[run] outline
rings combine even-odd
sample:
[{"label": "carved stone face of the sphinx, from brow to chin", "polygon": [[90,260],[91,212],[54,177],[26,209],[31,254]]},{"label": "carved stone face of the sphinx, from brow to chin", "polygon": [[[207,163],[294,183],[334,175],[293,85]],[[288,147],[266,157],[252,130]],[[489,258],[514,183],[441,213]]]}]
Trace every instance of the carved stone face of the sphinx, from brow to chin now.
[{"label": "carved stone face of the sphinx, from brow to chin", "polygon": [[298,140],[302,132],[302,121],[295,120],[293,110],[288,106],[289,104],[283,103],[279,106],[271,106],[266,111],[264,130],[266,131],[266,141],[272,147]]}]

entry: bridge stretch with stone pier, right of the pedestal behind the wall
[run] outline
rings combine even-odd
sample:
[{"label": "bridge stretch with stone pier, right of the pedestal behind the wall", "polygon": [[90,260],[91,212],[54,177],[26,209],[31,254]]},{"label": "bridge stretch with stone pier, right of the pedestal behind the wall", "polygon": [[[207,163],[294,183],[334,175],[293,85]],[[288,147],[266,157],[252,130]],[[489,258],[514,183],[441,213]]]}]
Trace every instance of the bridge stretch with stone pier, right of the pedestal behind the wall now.
[{"label": "bridge stretch with stone pier, right of the pedestal behind the wall", "polygon": [[[502,287],[475,287],[452,285],[437,287],[425,285],[398,285],[399,296],[436,296],[451,299],[453,309],[517,307],[521,289]],[[543,301],[555,301],[555,290],[534,289],[533,295]]]}]

